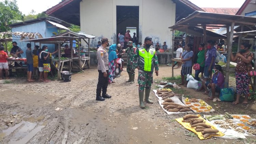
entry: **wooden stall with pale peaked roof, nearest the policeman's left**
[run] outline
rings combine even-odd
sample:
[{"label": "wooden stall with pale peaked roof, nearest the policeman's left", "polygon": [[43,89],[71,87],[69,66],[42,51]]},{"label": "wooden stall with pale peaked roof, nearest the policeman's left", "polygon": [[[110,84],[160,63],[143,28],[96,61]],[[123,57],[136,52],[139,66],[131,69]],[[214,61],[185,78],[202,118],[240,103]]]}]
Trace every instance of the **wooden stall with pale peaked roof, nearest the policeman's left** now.
[{"label": "wooden stall with pale peaked roof, nearest the policeman's left", "polygon": [[[58,35],[54,35],[53,37],[59,37],[59,36],[74,37],[75,39],[73,39],[73,40],[75,40],[79,44],[78,58],[73,58],[73,55],[71,55],[72,66],[74,64],[80,69],[80,71],[82,71],[83,68],[85,67],[85,64],[87,63],[87,67],[89,69],[90,68],[90,39],[94,39],[95,36],[85,34],[84,32],[76,33],[76,32],[68,30],[68,31],[60,33]],[[87,39],[87,41],[86,41],[86,39]],[[70,40],[70,45],[73,44],[73,40]],[[83,57],[83,58],[81,57],[81,50],[80,50],[81,40],[83,40],[88,45],[88,57]],[[79,66],[75,63],[75,61],[79,62]],[[72,67],[72,69],[74,69],[74,67]]]}]

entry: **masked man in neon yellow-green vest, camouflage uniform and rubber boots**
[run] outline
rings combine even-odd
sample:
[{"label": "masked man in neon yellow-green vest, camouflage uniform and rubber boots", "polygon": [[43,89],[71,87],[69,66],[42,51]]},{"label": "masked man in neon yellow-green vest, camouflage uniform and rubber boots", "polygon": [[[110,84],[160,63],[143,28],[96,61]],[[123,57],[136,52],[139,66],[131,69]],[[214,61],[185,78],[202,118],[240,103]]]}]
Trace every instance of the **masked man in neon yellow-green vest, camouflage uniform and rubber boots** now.
[{"label": "masked man in neon yellow-green vest, camouflage uniform and rubber boots", "polygon": [[153,103],[149,99],[151,84],[153,83],[153,71],[155,68],[156,76],[158,76],[158,59],[156,50],[152,45],[152,38],[146,37],[144,40],[144,46],[137,48],[138,63],[137,68],[139,70],[138,84],[139,84],[139,98],[140,107],[144,108],[144,89],[145,89],[145,101],[147,103]]}]

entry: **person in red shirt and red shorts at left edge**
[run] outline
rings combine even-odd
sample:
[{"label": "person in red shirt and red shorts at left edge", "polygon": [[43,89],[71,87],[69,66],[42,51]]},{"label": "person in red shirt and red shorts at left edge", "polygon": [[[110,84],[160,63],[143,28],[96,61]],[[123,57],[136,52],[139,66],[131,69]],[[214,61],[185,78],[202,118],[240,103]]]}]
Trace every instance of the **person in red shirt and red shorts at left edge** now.
[{"label": "person in red shirt and red shorts at left edge", "polygon": [[6,79],[8,79],[8,62],[7,62],[7,58],[8,58],[8,55],[7,53],[5,53],[3,51],[3,46],[0,46],[0,80],[2,80],[2,72],[3,72],[3,69],[5,70],[5,77]]}]

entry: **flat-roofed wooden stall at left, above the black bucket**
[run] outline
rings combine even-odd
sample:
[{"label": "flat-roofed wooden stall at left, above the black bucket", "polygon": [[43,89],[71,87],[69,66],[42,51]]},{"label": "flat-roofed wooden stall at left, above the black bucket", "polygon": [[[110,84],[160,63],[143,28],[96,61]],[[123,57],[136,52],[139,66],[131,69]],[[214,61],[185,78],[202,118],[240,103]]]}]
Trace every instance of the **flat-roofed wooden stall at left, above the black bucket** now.
[{"label": "flat-roofed wooden stall at left, above the black bucket", "polygon": [[60,72],[63,69],[64,62],[68,62],[70,66],[71,71],[71,59],[65,59],[61,60],[61,54],[60,54],[60,45],[62,43],[74,40],[75,37],[67,37],[67,36],[60,36],[60,37],[51,37],[51,38],[42,38],[42,39],[33,39],[33,40],[24,40],[24,42],[34,42],[34,43],[40,43],[40,44],[55,44],[58,48],[58,60],[53,60],[53,62],[57,62],[57,66],[55,64],[54,67],[57,70],[57,79],[60,79]]}]

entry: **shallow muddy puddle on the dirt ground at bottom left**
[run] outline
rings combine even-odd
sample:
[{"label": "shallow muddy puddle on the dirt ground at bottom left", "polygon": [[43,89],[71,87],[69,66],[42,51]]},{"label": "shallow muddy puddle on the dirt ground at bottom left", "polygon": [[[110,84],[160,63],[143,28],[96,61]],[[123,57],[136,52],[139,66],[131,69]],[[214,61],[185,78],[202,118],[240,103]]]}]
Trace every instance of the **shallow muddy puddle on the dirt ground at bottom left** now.
[{"label": "shallow muddy puddle on the dirt ground at bottom left", "polygon": [[45,116],[24,118],[23,121],[13,127],[3,130],[0,133],[0,142],[4,140],[5,142],[8,141],[9,144],[27,143],[47,125],[47,121],[42,121],[44,117]]}]

